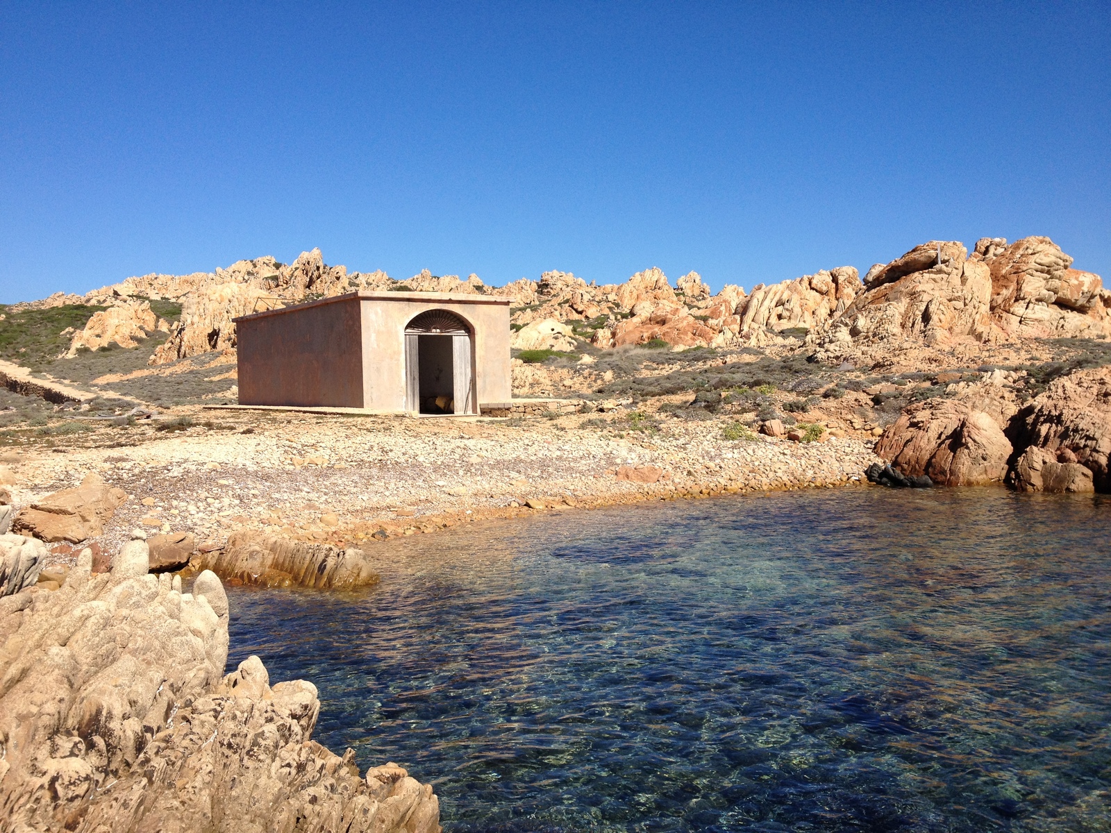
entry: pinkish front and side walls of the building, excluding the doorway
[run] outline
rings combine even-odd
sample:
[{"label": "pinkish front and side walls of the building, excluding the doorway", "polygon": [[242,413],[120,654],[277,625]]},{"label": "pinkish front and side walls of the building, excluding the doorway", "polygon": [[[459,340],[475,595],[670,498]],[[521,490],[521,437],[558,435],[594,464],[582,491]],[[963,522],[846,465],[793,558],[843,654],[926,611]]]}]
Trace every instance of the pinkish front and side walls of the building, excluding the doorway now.
[{"label": "pinkish front and side walls of the building, excluding the doorway", "polygon": [[236,319],[239,402],[403,413],[406,324],[429,310],[471,328],[477,404],[512,399],[508,299],[352,292]]}]

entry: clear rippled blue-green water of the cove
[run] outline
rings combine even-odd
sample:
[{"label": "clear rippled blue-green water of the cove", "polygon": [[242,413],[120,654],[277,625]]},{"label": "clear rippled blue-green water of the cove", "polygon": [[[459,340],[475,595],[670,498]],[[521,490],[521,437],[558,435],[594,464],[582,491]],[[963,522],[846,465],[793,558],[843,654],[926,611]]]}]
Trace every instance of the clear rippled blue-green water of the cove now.
[{"label": "clear rippled blue-green water of the cove", "polygon": [[233,591],[234,666],[450,831],[1111,830],[1111,501],[861,489],[389,542]]}]

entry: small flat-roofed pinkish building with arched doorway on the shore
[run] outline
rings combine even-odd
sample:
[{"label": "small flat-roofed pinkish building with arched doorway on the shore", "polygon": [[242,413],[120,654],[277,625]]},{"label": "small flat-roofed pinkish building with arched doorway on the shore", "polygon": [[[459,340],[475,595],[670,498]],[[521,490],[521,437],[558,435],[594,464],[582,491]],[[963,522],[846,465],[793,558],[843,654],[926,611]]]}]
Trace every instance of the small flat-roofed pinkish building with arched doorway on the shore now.
[{"label": "small flat-roofed pinkish building with arched doorway on the shore", "polygon": [[509,303],[351,292],[237,318],[239,403],[480,413],[511,399]]}]

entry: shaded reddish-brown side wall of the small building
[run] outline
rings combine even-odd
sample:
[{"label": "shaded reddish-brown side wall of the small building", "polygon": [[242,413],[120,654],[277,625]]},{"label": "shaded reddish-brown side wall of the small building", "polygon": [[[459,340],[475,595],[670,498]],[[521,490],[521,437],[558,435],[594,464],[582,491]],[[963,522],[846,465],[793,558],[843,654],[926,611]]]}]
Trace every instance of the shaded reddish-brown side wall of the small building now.
[{"label": "shaded reddish-brown side wall of the small building", "polygon": [[359,299],[242,319],[237,341],[240,404],[364,407]]}]

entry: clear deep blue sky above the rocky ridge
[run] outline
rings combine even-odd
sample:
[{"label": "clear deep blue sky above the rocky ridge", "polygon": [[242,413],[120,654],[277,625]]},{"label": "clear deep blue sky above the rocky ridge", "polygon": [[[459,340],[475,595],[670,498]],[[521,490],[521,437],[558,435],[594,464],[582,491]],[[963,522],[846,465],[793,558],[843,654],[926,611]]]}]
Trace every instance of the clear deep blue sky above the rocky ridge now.
[{"label": "clear deep blue sky above the rocky ridge", "polygon": [[314,245],[750,289],[1048,234],[1111,279],[1109,43],[1105,0],[0,2],[0,301]]}]

